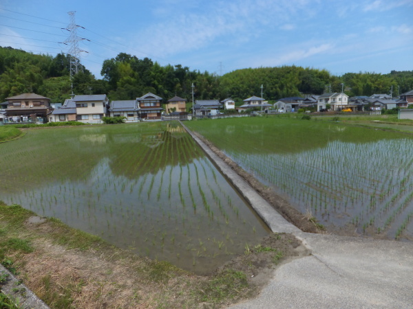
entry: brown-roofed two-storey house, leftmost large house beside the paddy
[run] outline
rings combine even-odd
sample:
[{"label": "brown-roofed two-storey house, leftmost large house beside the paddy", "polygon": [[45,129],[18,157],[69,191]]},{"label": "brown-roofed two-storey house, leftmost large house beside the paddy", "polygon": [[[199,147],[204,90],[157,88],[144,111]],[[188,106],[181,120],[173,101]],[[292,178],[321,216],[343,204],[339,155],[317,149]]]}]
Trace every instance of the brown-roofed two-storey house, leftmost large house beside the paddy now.
[{"label": "brown-roofed two-storey house, leftmost large house beside the paddy", "polygon": [[23,93],[6,100],[5,122],[47,122],[47,115],[52,112],[50,99],[36,93]]}]

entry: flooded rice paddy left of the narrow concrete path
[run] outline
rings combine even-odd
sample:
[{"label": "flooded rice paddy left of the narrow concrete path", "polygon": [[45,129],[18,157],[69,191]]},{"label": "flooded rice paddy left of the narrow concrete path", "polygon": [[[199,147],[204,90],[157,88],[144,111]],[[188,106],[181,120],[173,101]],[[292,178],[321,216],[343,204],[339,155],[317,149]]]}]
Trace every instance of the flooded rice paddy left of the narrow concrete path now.
[{"label": "flooded rice paddy left of the narrow concrete path", "polygon": [[268,234],[178,123],[29,130],[0,158],[5,203],[196,273]]}]

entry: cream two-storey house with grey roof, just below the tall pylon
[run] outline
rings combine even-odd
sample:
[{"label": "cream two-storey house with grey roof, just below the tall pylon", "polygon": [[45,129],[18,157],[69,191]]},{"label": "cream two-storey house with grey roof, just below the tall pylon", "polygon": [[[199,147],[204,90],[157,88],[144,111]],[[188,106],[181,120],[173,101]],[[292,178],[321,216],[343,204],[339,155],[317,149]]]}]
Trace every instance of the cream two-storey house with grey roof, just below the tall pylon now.
[{"label": "cream two-storey house with grey roof, just below the tall pylon", "polygon": [[101,124],[105,117],[109,100],[105,94],[75,95],[72,101],[76,104],[76,120],[87,124]]}]

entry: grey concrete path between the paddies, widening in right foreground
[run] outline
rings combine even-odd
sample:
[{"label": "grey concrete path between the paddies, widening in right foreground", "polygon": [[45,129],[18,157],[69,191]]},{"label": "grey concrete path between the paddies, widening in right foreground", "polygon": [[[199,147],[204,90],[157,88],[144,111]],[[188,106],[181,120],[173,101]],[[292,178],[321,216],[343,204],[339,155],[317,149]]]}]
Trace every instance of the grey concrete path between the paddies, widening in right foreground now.
[{"label": "grey concrete path between the paddies, widening in right foreground", "polygon": [[293,233],[312,252],[277,268],[258,297],[231,308],[413,308],[412,242],[304,233],[188,132],[273,232]]}]

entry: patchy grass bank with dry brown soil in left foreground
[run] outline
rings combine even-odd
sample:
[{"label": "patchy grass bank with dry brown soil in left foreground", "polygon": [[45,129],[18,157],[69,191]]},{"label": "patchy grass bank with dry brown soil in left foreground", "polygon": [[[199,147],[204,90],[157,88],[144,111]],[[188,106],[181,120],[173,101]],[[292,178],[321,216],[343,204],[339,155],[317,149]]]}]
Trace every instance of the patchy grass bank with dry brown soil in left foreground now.
[{"label": "patchy grass bank with dry brown soil in left foreground", "polygon": [[[213,275],[199,276],[113,247],[60,220],[0,203],[0,261],[51,308],[215,308],[251,297],[255,276],[298,255],[273,235]],[[40,219],[40,220],[39,220]]]}]

